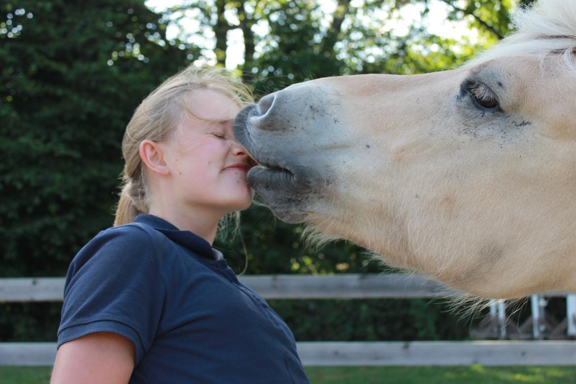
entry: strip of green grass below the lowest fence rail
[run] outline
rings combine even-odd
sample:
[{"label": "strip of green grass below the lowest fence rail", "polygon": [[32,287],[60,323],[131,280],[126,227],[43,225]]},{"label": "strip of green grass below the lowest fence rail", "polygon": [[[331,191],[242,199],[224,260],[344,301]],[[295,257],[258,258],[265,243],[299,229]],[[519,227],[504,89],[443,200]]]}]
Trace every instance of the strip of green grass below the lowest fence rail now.
[{"label": "strip of green grass below the lowest fence rail", "polygon": [[[52,367],[2,367],[2,384],[47,384]],[[306,367],[312,384],[576,384],[576,367]]]}]

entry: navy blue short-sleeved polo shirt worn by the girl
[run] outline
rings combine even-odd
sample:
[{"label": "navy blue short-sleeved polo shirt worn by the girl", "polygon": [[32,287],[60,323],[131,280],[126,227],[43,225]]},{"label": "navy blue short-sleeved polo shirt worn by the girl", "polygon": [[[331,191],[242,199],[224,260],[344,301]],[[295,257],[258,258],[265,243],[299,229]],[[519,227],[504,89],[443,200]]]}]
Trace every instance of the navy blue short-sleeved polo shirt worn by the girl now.
[{"label": "navy blue short-sleeved polo shirt worn by the girl", "polygon": [[108,228],[70,264],[58,347],[130,339],[130,383],[309,383],[293,334],[210,244],[151,214]]}]

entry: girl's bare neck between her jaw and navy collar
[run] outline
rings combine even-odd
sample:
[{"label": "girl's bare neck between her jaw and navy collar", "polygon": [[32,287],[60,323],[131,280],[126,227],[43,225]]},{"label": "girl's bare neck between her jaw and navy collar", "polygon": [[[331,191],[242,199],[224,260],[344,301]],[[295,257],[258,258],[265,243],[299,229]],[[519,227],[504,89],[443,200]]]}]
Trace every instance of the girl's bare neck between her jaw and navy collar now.
[{"label": "girl's bare neck between her jaw and navy collar", "polygon": [[212,245],[218,222],[222,217],[221,214],[215,213],[214,210],[194,209],[191,212],[180,208],[170,208],[165,206],[150,206],[150,214],[158,216],[168,221],[180,231],[191,231],[200,236]]}]

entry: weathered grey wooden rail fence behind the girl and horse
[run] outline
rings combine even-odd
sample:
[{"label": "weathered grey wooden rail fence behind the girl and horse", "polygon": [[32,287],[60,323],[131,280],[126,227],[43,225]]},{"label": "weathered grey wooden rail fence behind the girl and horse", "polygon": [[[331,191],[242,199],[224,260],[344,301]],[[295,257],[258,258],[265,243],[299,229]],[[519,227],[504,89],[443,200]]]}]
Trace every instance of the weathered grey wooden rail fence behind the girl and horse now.
[{"label": "weathered grey wooden rail fence behind the girl and horse", "polygon": [[[406,299],[461,295],[422,276],[404,274],[265,275],[244,276],[240,280],[266,299]],[[0,302],[62,301],[63,287],[63,278],[0,278]],[[547,292],[545,296],[566,294]],[[570,320],[574,322],[569,313]],[[306,366],[576,366],[576,341],[573,340],[298,342],[297,347]],[[0,343],[0,366],[50,366],[55,355],[56,345],[51,342]]]}]

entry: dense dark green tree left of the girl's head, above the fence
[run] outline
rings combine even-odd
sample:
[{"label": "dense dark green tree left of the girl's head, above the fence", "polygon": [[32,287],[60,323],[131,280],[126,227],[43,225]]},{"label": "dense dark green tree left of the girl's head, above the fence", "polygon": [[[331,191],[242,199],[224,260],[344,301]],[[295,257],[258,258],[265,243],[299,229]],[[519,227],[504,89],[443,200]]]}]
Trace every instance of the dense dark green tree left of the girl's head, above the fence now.
[{"label": "dense dark green tree left of the girl's head, above the fence", "polygon": [[0,33],[0,276],[62,276],[112,223],[134,108],[187,52],[142,1],[7,1],[0,17],[16,28]]}]

